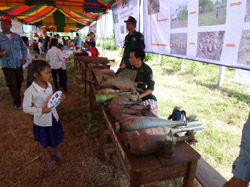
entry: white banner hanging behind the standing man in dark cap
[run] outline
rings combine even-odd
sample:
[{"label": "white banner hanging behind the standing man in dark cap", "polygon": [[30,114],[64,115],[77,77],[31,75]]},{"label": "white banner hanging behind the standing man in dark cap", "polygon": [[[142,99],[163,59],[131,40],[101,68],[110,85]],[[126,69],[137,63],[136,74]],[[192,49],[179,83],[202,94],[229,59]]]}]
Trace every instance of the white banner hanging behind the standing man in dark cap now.
[{"label": "white banner hanging behind the standing man in dark cap", "polygon": [[117,47],[124,46],[124,39],[127,32],[125,20],[128,20],[129,16],[134,17],[137,20],[136,30],[139,26],[139,12],[138,12],[138,0],[121,0],[117,1],[112,6],[113,23],[114,23],[114,36],[115,45]]}]

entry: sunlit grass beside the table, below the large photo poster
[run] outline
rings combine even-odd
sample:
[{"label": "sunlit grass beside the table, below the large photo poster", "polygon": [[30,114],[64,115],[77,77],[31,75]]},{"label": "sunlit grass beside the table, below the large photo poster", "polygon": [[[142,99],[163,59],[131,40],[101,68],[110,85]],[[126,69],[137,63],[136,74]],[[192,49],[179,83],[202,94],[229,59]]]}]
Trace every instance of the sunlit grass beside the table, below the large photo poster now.
[{"label": "sunlit grass beside the table, below the large photo poster", "polygon": [[227,69],[222,87],[217,88],[219,66],[163,57],[151,65],[156,82],[159,116],[167,118],[181,105],[187,115],[196,115],[205,130],[198,134],[194,148],[212,167],[229,179],[231,166],[239,153],[241,131],[250,111],[250,87],[233,82],[234,70]]}]

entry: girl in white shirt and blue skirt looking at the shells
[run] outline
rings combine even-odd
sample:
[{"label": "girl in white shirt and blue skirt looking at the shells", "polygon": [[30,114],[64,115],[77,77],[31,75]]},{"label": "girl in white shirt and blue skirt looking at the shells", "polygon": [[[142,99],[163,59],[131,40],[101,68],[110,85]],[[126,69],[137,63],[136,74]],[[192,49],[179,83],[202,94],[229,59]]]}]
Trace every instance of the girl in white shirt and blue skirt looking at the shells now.
[{"label": "girl in white shirt and blue skirt looking at the shells", "polygon": [[[52,147],[52,154],[59,160],[62,153],[55,148],[63,140],[63,129],[55,108],[48,108],[47,103],[53,94],[50,79],[50,65],[43,60],[35,60],[28,67],[33,82],[24,92],[23,111],[34,116],[33,133],[35,141],[41,145],[45,156],[45,166],[56,168],[56,161],[51,160],[48,147]],[[64,96],[63,96],[64,99]]]}]

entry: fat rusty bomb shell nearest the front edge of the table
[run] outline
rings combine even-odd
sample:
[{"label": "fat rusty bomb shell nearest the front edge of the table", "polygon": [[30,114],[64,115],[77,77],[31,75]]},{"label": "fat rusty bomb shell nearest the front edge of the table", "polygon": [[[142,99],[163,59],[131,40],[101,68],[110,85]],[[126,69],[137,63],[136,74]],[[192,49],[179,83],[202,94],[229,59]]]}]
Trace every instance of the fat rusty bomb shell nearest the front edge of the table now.
[{"label": "fat rusty bomb shell nearest the front edge of the table", "polygon": [[166,142],[175,144],[178,141],[185,141],[185,137],[170,136],[169,127],[155,127],[136,131],[129,131],[123,134],[125,147],[128,152],[134,155],[147,155],[158,152],[164,148]]}]

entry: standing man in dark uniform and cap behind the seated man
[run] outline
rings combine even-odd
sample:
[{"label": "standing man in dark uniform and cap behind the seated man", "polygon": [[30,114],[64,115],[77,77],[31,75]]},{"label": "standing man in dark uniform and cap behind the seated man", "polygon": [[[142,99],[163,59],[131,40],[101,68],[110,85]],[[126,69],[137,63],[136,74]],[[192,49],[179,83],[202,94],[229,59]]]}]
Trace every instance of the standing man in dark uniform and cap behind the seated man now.
[{"label": "standing man in dark uniform and cap behind the seated man", "polygon": [[129,63],[130,52],[133,49],[141,48],[145,49],[144,37],[140,32],[135,30],[136,28],[136,19],[132,16],[128,17],[128,20],[125,21],[127,25],[128,34],[125,37],[124,41],[124,52],[122,61],[120,64],[120,68],[128,68],[131,69],[131,65]]}]

